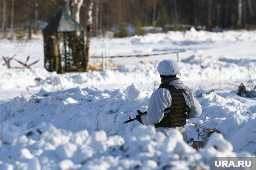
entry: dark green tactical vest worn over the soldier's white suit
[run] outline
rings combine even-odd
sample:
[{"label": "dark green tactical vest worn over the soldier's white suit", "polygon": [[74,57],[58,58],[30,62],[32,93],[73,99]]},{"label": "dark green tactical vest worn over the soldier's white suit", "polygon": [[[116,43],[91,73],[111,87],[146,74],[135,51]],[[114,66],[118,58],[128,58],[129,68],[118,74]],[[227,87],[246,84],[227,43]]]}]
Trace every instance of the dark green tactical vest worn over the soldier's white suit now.
[{"label": "dark green tactical vest worn over the soldier's white suit", "polygon": [[[170,81],[178,79],[172,78]],[[168,83],[170,82],[168,81]],[[155,127],[181,127],[186,124],[186,118],[190,108],[186,105],[185,98],[183,96],[183,89],[175,89],[168,83],[161,83],[160,88],[169,89],[171,93],[171,106],[164,110],[163,119],[155,124]]]}]

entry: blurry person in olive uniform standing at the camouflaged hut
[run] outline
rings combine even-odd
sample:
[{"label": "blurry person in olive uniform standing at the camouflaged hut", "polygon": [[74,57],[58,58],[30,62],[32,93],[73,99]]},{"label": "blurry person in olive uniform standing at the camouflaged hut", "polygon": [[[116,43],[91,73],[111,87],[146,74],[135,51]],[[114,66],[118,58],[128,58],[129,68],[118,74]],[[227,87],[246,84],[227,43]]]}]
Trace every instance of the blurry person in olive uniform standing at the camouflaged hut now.
[{"label": "blurry person in olive uniform standing at the camouflaged hut", "polygon": [[59,49],[58,41],[54,34],[50,34],[48,40],[48,55],[50,60],[50,70],[49,71],[58,71],[59,68]]}]

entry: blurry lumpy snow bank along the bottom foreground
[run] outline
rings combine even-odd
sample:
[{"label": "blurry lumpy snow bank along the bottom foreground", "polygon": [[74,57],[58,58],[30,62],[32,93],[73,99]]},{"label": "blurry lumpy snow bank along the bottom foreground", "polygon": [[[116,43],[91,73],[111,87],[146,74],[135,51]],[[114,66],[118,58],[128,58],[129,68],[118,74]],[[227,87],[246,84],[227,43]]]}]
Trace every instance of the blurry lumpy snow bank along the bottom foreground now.
[{"label": "blurry lumpy snow bank along the bottom foreground", "polygon": [[152,126],[140,125],[125,137],[107,136],[105,131],[72,133],[49,123],[27,131],[3,126],[16,135],[9,143],[6,136],[2,138],[0,169],[209,169],[210,157],[237,156],[221,134],[213,135],[197,152],[183,141],[179,131],[173,130],[166,137]]}]

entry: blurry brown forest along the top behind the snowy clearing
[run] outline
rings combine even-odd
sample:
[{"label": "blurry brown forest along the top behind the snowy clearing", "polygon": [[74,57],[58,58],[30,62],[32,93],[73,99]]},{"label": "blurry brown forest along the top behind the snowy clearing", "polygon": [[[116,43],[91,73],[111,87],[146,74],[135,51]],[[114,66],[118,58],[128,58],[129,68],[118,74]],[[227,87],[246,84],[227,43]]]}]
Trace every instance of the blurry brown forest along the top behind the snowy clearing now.
[{"label": "blurry brown forest along the top behind the snowy clearing", "polygon": [[255,0],[0,0],[0,38],[30,39],[41,30],[40,23],[49,23],[61,8],[74,18],[78,15],[76,20],[86,28],[89,6],[92,36],[121,22],[138,28],[137,35],[143,34],[143,26],[162,27],[164,32],[191,26],[207,31],[256,28]]}]

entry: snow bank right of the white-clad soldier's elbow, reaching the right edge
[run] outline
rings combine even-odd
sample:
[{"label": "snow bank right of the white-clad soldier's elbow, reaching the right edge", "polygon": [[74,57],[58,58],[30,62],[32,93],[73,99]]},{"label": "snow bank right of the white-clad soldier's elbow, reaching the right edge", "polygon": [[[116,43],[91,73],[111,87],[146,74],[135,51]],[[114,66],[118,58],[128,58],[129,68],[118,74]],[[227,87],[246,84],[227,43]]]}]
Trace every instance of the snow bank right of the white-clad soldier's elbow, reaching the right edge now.
[{"label": "snow bank right of the white-clad soldier's elbow, reaching the right edge", "polygon": [[[243,148],[243,151],[255,155],[253,144],[256,141],[256,134],[253,124],[256,113],[252,112],[248,105],[231,97],[223,98],[214,92],[209,95],[203,94],[199,102],[202,106],[202,114],[191,120],[192,122],[218,129],[225,139],[231,142],[234,151],[239,152]],[[187,129],[190,135],[194,133],[192,129]],[[194,135],[190,137],[196,139],[197,134]]]}]

